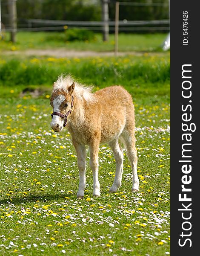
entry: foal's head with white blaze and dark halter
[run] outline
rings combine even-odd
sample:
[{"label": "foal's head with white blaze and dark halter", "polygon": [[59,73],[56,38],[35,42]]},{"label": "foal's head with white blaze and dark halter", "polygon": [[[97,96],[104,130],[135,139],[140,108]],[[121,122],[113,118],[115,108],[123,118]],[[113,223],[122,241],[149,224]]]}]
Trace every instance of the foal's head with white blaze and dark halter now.
[{"label": "foal's head with white blaze and dark halter", "polygon": [[54,83],[53,92],[51,94],[50,104],[53,108],[51,115],[51,128],[54,131],[61,131],[67,124],[67,116],[71,113],[73,106],[73,91],[75,84],[63,87]]}]

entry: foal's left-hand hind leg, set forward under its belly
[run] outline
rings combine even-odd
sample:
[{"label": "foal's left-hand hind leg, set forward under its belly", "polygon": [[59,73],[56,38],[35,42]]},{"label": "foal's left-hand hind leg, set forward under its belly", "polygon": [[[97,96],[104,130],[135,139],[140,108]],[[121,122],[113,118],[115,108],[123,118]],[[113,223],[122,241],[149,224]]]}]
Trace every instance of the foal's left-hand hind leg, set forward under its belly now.
[{"label": "foal's left-hand hind leg, set forward under its belly", "polygon": [[120,188],[122,182],[122,173],[123,173],[123,150],[120,148],[118,143],[118,138],[112,140],[109,143],[109,146],[114,154],[114,159],[116,163],[116,172],[114,177],[114,183],[111,186],[109,192],[116,192]]}]

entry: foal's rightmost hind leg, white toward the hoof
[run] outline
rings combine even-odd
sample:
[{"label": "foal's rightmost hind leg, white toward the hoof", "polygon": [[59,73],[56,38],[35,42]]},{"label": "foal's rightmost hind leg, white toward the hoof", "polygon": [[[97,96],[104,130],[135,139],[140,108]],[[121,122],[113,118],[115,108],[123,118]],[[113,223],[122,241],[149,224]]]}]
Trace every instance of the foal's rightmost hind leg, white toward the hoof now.
[{"label": "foal's rightmost hind leg, white toward the hoof", "polygon": [[135,137],[127,131],[123,131],[123,142],[126,146],[126,153],[131,163],[131,169],[133,173],[133,186],[132,192],[139,191],[139,179],[137,176],[137,150],[135,148]]}]

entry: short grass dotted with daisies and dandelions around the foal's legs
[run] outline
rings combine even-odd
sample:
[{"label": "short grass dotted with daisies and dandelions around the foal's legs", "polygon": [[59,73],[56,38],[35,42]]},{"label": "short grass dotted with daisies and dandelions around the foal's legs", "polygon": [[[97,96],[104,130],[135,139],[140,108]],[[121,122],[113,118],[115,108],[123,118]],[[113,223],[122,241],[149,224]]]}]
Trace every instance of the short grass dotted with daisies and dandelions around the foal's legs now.
[{"label": "short grass dotted with daisies and dandelions around the foal's legs", "polygon": [[67,255],[123,255],[126,248],[131,250],[127,255],[153,256],[170,250],[169,104],[164,99],[136,104],[140,192],[130,192],[131,168],[125,157],[122,187],[108,193],[115,163],[103,145],[101,197],[92,198],[88,168],[83,200],[76,199],[78,169],[69,134],[50,130],[49,100],[1,99],[1,110],[1,255],[14,250],[23,255],[42,255],[41,250],[45,255],[61,250]]}]

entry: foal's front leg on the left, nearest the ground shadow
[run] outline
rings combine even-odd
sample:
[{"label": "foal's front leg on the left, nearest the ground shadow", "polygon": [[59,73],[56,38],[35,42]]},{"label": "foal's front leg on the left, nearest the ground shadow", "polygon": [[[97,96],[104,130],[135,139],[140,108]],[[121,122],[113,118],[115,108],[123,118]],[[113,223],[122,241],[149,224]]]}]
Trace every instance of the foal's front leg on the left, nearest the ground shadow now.
[{"label": "foal's front leg on the left, nearest the ground shadow", "polygon": [[84,197],[84,190],[86,188],[86,147],[83,144],[73,141],[74,148],[77,153],[77,164],[79,169],[79,189],[77,198]]}]

